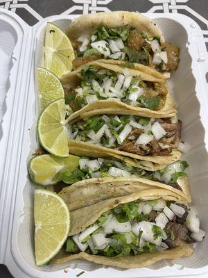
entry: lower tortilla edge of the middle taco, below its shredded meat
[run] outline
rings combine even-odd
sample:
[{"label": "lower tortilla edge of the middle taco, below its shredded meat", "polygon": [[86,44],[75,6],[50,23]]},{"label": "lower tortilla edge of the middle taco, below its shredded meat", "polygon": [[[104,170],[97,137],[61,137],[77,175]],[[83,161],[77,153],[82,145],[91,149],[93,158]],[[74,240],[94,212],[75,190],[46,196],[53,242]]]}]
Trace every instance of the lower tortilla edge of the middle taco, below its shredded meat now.
[{"label": "lower tortilla edge of the middle taco, below its shredded meat", "polygon": [[[116,157],[121,160],[140,167],[146,170],[159,170],[166,165],[174,163],[180,159],[181,153],[173,150],[170,156],[140,156],[139,154],[131,154],[130,152],[123,152],[117,149],[110,149],[100,145],[94,145],[89,142],[82,142],[78,140],[68,140],[69,153],[78,156],[92,156],[92,157]],[[145,161],[145,162],[144,162]]]}]

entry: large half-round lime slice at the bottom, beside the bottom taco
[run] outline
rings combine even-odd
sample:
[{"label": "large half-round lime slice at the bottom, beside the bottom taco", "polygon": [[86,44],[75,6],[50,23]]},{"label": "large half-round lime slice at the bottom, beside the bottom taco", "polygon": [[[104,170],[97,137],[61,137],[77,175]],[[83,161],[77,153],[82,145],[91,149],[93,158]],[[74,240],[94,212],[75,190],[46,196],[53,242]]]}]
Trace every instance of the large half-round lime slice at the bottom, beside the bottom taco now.
[{"label": "large half-round lime slice at the bottom, beside the bottom taco", "polygon": [[64,200],[48,190],[35,190],[35,262],[48,263],[67,240],[70,215]]}]

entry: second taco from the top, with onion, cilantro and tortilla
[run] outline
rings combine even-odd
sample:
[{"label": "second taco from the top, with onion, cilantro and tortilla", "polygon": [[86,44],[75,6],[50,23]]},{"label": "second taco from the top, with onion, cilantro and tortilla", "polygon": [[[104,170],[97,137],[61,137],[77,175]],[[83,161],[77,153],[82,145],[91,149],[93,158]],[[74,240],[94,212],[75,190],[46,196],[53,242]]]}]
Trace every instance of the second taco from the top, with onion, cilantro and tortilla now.
[{"label": "second taco from the top, with onion, cilantro and tortilla", "polygon": [[98,60],[62,76],[68,121],[100,113],[171,117],[175,102],[162,74],[150,67]]}]

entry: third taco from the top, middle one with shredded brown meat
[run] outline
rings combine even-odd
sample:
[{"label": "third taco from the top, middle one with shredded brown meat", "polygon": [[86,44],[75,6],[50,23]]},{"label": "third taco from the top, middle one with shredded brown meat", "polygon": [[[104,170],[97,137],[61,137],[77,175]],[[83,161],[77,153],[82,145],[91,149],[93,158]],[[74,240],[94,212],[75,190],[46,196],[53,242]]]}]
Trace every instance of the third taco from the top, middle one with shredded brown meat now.
[{"label": "third taco from the top, middle one with shredded brown meat", "polygon": [[[76,155],[128,158],[157,169],[180,158],[181,122],[128,115],[99,115],[68,124],[69,152]],[[142,163],[141,163],[142,161]],[[162,166],[162,167],[161,167]],[[152,170],[155,169],[154,166]]]}]

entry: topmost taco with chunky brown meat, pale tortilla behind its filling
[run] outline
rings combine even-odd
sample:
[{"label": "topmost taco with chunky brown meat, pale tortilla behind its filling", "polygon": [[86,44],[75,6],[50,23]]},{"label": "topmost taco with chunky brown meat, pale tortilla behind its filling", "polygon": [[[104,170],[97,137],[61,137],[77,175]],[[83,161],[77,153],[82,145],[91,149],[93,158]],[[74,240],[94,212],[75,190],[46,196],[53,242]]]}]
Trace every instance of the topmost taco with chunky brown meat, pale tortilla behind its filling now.
[{"label": "topmost taco with chunky brown meat, pale tortilla behind its filling", "polygon": [[176,70],[179,48],[164,42],[157,24],[140,13],[83,15],[67,31],[76,58],[73,69],[100,58],[141,63],[161,72]]}]

